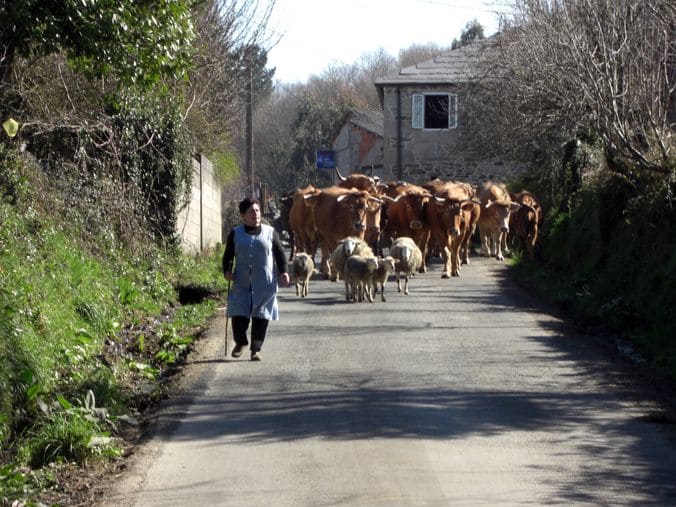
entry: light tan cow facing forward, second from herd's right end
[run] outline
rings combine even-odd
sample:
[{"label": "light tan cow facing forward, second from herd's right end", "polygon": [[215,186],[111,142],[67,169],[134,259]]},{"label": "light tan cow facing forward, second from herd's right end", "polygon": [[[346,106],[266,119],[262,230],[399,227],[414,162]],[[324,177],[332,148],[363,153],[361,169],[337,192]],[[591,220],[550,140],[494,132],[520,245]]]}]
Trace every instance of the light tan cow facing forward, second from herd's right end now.
[{"label": "light tan cow facing forward, second from herd's right end", "polygon": [[479,185],[477,194],[481,201],[481,254],[484,257],[495,256],[499,261],[504,260],[502,242],[509,232],[509,215],[520,206],[512,202],[504,184],[488,181]]}]

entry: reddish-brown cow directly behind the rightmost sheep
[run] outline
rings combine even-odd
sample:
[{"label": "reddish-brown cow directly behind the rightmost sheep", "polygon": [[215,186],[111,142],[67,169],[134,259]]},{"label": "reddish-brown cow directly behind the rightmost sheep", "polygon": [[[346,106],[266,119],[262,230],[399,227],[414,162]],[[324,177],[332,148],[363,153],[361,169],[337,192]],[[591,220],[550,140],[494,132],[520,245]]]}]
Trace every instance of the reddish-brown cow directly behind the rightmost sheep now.
[{"label": "reddish-brown cow directly behind the rightmost sheep", "polygon": [[406,185],[402,190],[387,205],[388,232],[392,238],[406,236],[413,239],[423,254],[419,272],[425,273],[425,254],[430,236],[430,229],[425,221],[425,207],[433,195],[417,185]]}]

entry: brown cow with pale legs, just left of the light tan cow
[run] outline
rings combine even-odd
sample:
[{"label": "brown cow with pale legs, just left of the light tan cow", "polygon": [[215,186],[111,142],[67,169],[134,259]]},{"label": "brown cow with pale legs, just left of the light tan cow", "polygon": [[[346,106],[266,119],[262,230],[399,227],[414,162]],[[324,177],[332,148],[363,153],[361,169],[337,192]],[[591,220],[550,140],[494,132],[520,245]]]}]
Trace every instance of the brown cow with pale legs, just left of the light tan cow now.
[{"label": "brown cow with pale legs, just left of the light tan cow", "polygon": [[442,278],[460,276],[460,251],[469,239],[475,202],[465,185],[438,185],[434,199],[425,207],[430,240],[444,259]]}]

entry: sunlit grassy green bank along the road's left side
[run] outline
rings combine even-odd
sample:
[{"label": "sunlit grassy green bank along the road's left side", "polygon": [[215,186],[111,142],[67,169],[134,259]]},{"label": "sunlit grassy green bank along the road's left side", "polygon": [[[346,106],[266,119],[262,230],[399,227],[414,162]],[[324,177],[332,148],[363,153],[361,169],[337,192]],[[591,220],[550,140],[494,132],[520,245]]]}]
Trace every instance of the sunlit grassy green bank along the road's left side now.
[{"label": "sunlit grassy green bank along the road's left side", "polygon": [[46,464],[118,455],[224,287],[219,252],[130,250],[66,202],[0,144],[0,504],[48,489]]}]

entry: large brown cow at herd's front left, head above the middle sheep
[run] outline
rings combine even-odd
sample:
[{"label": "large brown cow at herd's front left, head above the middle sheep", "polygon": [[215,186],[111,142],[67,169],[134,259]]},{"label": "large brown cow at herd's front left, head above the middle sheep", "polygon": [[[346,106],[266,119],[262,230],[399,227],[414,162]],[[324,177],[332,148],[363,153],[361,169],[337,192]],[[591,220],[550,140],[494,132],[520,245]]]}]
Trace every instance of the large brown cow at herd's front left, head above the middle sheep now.
[{"label": "large brown cow at herd's front left, head above the middle sheep", "polygon": [[347,236],[364,239],[368,206],[375,202],[382,204],[377,197],[364,190],[341,187],[322,188],[317,194],[305,196],[313,207],[317,237],[322,249],[322,272],[331,276],[329,257],[338,242]]}]

